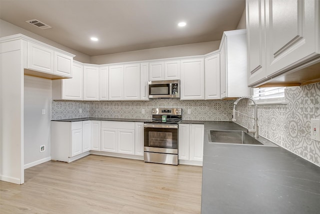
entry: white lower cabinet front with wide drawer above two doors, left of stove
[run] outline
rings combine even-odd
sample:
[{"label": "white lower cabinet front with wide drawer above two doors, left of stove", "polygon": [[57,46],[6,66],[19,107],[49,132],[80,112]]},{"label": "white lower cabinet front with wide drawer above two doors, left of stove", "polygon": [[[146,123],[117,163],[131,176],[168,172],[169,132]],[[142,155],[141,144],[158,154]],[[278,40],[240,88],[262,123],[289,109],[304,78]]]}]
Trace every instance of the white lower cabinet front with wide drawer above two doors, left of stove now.
[{"label": "white lower cabinet front with wide drawer above two doors, left of stove", "polygon": [[101,151],[134,155],[134,122],[102,121]]}]

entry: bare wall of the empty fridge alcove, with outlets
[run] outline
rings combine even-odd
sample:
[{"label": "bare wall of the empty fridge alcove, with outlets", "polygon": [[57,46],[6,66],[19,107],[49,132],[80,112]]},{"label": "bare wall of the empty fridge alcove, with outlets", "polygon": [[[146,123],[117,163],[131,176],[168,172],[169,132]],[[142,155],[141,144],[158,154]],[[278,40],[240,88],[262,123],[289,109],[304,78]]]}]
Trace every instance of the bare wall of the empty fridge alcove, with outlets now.
[{"label": "bare wall of the empty fridge alcove, with outlets", "polygon": [[[24,76],[24,168],[51,159],[51,94],[51,80]],[[41,145],[44,152],[40,152]]]}]

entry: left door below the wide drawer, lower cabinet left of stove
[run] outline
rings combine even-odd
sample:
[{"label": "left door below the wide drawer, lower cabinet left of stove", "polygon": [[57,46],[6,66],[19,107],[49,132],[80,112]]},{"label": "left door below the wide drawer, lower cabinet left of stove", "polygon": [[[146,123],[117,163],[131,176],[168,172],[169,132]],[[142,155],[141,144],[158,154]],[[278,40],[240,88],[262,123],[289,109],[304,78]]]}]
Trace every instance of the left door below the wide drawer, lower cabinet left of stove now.
[{"label": "left door below the wide drawer, lower cabinet left of stove", "polygon": [[101,151],[117,152],[117,129],[101,128]]}]

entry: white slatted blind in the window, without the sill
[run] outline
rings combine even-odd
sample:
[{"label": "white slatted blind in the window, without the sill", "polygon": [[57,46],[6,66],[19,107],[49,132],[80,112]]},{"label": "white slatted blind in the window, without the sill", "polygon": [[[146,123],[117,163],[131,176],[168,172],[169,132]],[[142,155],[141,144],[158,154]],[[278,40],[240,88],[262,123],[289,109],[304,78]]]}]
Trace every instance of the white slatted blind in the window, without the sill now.
[{"label": "white slatted blind in the window, without the sill", "polygon": [[284,89],[285,87],[253,88],[253,99],[284,99]]}]

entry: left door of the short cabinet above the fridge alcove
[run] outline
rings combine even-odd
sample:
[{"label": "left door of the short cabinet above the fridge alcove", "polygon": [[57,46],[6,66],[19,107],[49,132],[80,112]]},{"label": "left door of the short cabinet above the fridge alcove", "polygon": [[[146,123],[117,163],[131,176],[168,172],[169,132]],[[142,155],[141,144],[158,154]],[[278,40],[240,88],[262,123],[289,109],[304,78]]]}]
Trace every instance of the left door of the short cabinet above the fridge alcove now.
[{"label": "left door of the short cabinet above the fridge alcove", "polygon": [[27,68],[53,74],[54,51],[27,42]]}]

